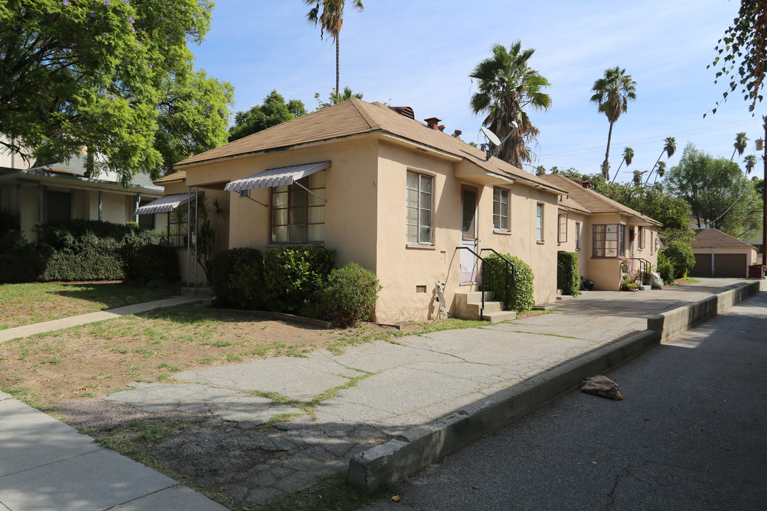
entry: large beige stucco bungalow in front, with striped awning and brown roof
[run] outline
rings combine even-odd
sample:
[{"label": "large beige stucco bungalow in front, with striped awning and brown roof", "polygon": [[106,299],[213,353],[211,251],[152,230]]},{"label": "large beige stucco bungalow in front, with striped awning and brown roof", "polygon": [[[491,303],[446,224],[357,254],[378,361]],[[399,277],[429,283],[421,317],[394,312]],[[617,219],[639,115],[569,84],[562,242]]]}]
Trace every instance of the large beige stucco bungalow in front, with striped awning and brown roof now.
[{"label": "large beige stucco bungalow in front, with striped awning and brown roof", "polygon": [[226,247],[322,246],[374,271],[380,322],[434,316],[438,281],[455,310],[481,279],[471,251],[485,249],[524,260],[535,303],[553,302],[564,190],[426,121],[354,98],[179,162],[156,184],[222,198]]}]

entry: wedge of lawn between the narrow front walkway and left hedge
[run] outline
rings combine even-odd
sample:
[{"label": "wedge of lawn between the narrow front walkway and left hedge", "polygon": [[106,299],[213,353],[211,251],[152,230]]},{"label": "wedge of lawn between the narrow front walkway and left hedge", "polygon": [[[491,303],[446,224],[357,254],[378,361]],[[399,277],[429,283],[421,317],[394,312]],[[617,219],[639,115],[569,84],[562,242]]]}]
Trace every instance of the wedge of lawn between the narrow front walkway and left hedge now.
[{"label": "wedge of lawn between the narrow front walkway and left hedge", "polygon": [[173,290],[120,283],[0,284],[0,330],[161,300]]}]

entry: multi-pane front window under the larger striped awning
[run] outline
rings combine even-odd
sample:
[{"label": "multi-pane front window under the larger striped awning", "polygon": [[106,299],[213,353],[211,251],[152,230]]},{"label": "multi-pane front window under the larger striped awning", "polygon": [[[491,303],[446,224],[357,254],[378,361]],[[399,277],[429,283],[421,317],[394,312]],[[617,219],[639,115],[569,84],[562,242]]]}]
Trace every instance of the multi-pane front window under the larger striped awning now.
[{"label": "multi-pane front window under the larger striped awning", "polygon": [[[311,192],[311,193],[310,193]],[[325,239],[325,173],[272,187],[272,243],[321,243]]]}]

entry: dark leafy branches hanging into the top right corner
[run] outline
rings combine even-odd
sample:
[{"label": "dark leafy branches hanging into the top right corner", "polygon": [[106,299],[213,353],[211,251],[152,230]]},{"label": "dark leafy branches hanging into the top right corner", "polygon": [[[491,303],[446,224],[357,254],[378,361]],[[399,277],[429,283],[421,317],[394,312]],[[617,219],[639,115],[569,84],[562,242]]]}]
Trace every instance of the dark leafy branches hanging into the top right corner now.
[{"label": "dark leafy branches hanging into the top right corner", "polygon": [[[740,90],[743,99],[751,101],[749,111],[753,112],[756,102],[762,101],[767,70],[767,0],[741,0],[738,16],[717,42],[716,51],[716,58],[706,68],[717,70],[715,84],[722,77],[729,80],[716,106],[726,101],[729,93]],[[716,108],[711,113],[716,113]]]}]

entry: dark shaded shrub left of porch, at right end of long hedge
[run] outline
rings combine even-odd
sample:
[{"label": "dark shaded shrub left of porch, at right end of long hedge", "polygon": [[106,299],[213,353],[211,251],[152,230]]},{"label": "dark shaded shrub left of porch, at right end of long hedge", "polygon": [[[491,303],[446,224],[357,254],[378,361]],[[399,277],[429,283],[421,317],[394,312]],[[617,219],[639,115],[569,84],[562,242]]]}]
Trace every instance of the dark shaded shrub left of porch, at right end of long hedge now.
[{"label": "dark shaded shrub left of porch, at right end of long hedge", "polygon": [[144,244],[134,247],[132,251],[123,248],[123,254],[127,282],[164,287],[181,280],[179,257],[173,247],[165,244]]}]

